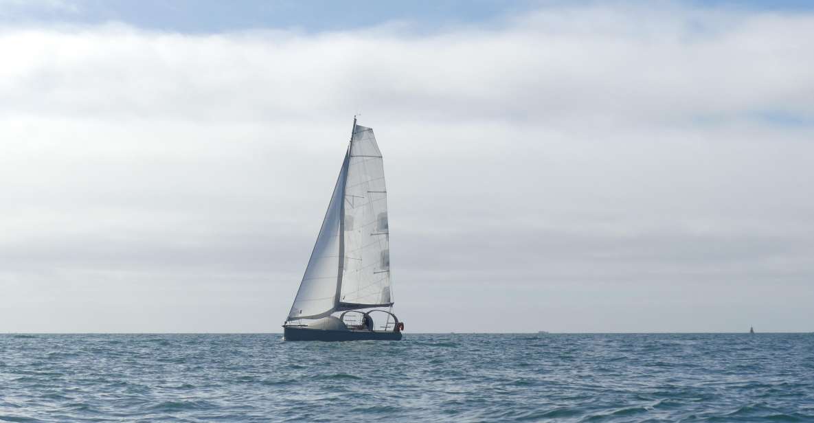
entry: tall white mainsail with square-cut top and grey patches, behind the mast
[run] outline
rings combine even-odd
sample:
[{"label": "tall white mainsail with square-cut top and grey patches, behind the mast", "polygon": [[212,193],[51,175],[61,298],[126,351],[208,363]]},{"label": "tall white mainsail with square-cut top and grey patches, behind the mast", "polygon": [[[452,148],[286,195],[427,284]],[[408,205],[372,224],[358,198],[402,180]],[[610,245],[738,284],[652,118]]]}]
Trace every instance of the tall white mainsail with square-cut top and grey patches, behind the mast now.
[{"label": "tall white mainsail with square-cut top and grey patches, behind the mast", "polygon": [[338,309],[392,305],[384,166],[373,129],[356,125],[344,202],[344,272]]}]

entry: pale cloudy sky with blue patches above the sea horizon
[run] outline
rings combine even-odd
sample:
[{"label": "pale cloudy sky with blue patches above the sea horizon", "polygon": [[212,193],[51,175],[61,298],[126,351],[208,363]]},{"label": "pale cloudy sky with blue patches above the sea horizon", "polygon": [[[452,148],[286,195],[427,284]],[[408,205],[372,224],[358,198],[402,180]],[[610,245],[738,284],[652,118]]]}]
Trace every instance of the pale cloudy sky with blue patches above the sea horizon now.
[{"label": "pale cloudy sky with blue patches above the sea horizon", "polygon": [[814,330],[807,2],[0,0],[0,332],[279,332],[352,118],[421,332]]}]

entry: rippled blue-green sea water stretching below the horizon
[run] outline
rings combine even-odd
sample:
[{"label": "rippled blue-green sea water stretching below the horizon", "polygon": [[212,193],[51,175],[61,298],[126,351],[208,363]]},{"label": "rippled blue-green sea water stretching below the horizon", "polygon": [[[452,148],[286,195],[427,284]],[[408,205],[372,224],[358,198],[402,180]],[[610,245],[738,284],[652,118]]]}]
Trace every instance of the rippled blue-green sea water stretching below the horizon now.
[{"label": "rippled blue-green sea water stretching below the horizon", "polygon": [[814,334],[7,334],[0,421],[814,421]]}]

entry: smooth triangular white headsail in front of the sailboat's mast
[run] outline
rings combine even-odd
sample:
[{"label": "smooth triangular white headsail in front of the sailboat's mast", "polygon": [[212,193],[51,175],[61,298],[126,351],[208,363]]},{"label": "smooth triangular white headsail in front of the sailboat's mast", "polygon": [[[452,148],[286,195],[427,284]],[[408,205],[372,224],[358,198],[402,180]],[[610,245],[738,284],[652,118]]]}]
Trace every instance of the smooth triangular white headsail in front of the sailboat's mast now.
[{"label": "smooth triangular white headsail in front of the sailboat's mast", "polygon": [[[350,151],[348,151],[348,154]],[[344,197],[345,181],[348,176],[348,155],[345,155],[342,169],[336,180],[334,194],[330,196],[328,211],[322,220],[322,229],[319,230],[317,242],[313,246],[311,259],[305,268],[300,290],[288,312],[288,320],[307,319],[328,316],[336,308],[336,296],[339,286],[337,281],[341,275],[342,237],[340,236],[340,222],[342,220],[342,198]]]}]

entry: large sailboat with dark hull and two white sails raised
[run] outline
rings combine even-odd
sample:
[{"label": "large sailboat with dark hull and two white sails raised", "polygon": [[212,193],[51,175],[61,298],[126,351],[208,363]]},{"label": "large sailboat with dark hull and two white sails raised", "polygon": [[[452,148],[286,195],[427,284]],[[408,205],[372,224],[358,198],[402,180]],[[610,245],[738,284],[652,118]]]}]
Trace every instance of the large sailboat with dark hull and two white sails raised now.
[{"label": "large sailboat with dark hull and two white sails raised", "polygon": [[390,231],[382,154],[357,124],[311,258],[282,325],[287,341],[400,340],[392,312]]}]

